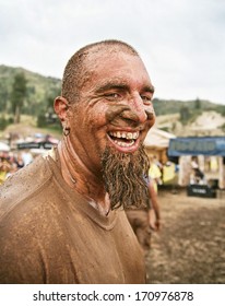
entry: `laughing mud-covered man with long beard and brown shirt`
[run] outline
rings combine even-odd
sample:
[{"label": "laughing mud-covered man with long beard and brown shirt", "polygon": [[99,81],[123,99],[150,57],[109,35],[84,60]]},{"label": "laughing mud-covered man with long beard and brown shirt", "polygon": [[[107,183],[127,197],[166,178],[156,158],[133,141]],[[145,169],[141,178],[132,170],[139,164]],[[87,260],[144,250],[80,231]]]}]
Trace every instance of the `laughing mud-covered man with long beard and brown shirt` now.
[{"label": "laughing mud-covered man with long beard and brown shirt", "polygon": [[123,207],[142,205],[153,85],[137,51],[106,40],[69,60],[55,110],[63,138],[0,190],[2,283],[143,283]]}]

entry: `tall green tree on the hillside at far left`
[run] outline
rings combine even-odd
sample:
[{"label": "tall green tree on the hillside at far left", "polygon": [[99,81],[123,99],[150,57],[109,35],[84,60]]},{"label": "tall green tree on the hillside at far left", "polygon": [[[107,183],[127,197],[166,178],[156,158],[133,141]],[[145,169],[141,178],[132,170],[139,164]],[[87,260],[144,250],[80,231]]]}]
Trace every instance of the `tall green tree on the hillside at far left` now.
[{"label": "tall green tree on the hillside at far left", "polygon": [[15,74],[11,93],[14,123],[20,123],[21,120],[21,108],[26,97],[26,83],[27,80],[23,72]]}]

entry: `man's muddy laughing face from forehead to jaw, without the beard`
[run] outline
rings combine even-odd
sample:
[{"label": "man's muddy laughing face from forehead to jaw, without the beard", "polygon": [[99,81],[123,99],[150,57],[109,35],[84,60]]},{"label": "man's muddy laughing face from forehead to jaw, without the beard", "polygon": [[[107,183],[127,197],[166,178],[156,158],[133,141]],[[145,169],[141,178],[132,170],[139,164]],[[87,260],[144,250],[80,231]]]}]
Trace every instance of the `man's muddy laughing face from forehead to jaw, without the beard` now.
[{"label": "man's muddy laughing face from forehead to jaw, without the beard", "polygon": [[88,78],[68,116],[69,140],[82,163],[100,174],[107,146],[135,153],[155,121],[153,85],[138,56],[105,52],[86,62]]}]

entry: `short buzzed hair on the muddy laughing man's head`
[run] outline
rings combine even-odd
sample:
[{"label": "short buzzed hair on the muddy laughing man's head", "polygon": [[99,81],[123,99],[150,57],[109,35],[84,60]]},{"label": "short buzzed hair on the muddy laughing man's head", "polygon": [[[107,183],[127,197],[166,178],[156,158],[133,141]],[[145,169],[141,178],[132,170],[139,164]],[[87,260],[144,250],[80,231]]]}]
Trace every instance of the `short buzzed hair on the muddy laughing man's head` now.
[{"label": "short buzzed hair on the muddy laughing man's head", "polygon": [[85,60],[91,54],[103,51],[122,51],[132,56],[139,56],[137,50],[121,40],[108,39],[93,43],[79,49],[68,61],[62,78],[61,95],[69,104],[79,101],[83,84],[90,79],[91,71],[85,68]]}]

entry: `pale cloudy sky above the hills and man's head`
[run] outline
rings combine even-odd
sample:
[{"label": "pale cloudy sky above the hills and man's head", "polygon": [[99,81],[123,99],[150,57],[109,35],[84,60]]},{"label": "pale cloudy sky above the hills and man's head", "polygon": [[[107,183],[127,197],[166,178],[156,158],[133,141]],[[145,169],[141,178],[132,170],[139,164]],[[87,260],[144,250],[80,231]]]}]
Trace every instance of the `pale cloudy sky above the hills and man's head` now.
[{"label": "pale cloudy sky above the hills and man's head", "polygon": [[61,79],[110,38],[139,51],[155,97],[225,105],[224,0],[0,0],[0,64]]}]

